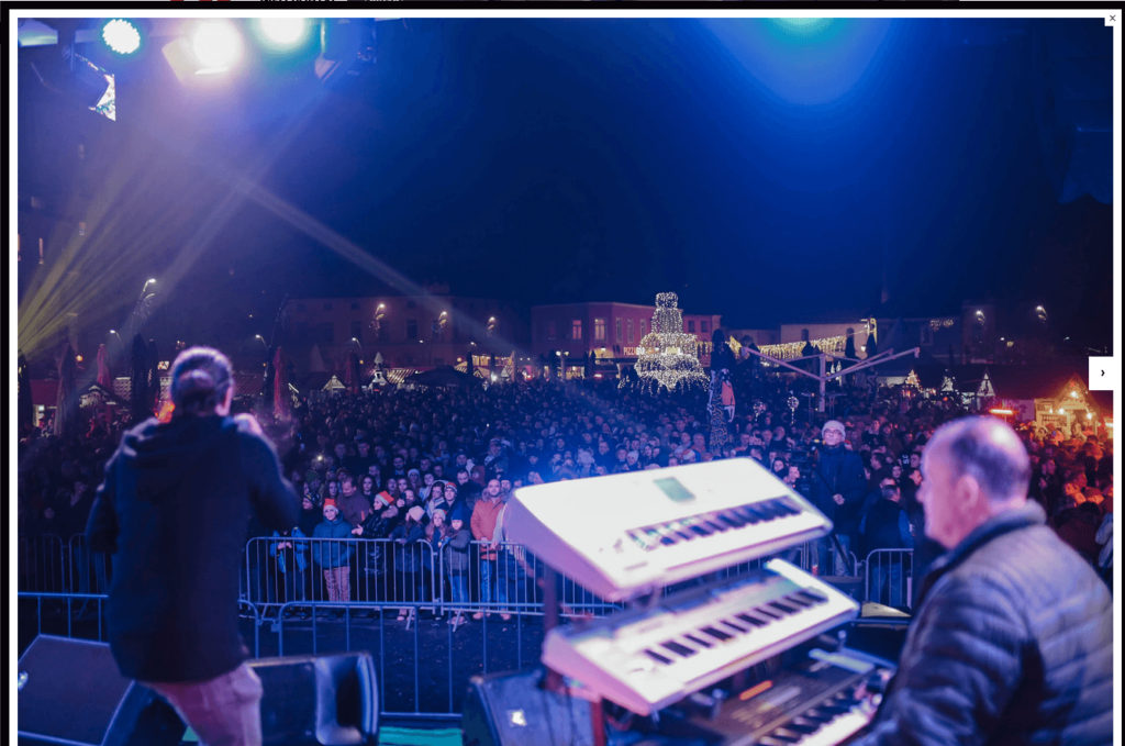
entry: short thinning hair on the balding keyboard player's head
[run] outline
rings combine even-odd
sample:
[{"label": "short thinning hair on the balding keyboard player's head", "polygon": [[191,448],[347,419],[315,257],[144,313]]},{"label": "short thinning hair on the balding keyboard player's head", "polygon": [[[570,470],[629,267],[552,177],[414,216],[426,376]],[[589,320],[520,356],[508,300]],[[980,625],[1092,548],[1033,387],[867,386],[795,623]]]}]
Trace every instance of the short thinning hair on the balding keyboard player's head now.
[{"label": "short thinning hair on the balding keyboard player's head", "polygon": [[1019,453],[1012,453],[998,444],[991,433],[996,428],[1007,428],[991,417],[972,416],[946,425],[946,447],[953,460],[955,474],[968,474],[984,488],[989,497],[1004,500],[1027,494],[1032,480],[1032,465],[1019,439]]}]

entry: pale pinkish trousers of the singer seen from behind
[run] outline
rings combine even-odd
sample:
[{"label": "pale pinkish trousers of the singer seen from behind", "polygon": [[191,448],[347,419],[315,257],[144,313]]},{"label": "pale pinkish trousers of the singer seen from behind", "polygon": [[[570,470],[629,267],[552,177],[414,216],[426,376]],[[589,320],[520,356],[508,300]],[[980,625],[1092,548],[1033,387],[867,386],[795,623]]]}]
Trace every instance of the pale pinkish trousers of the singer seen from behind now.
[{"label": "pale pinkish trousers of the singer seen from behind", "polygon": [[206,746],[261,746],[262,682],[245,663],[210,681],[147,683]]}]

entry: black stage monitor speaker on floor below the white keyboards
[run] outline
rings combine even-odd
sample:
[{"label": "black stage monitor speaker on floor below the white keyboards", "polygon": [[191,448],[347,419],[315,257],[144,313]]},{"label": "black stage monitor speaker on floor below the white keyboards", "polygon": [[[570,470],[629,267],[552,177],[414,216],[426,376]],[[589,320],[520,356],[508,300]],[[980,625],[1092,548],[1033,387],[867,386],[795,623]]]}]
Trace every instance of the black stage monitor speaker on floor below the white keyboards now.
[{"label": "black stage monitor speaker on floor below the white keyboards", "polygon": [[544,690],[543,675],[539,668],[470,678],[465,746],[593,746],[590,702]]}]

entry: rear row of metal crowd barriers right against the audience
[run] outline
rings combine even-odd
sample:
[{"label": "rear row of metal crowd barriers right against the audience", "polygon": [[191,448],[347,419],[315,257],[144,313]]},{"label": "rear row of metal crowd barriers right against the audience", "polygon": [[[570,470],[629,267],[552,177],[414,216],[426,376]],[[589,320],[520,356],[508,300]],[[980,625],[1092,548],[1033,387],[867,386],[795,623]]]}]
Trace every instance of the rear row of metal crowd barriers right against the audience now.
[{"label": "rear row of metal crowd barriers right against the audience", "polygon": [[[472,541],[458,550],[448,541],[435,543],[255,537],[244,548],[241,595],[264,615],[294,602],[397,603],[407,613],[412,606],[421,606],[441,614],[474,617],[543,613],[544,567],[526,547]],[[834,542],[821,540],[776,556],[819,575],[864,578],[861,601],[910,605],[912,550],[876,550],[860,561],[850,551],[840,555]],[[750,572],[764,559],[668,586],[664,593]],[[109,558],[90,551],[83,534],[68,541],[54,534],[19,537],[18,564],[18,590],[26,593],[101,594],[108,592],[112,577]],[[602,617],[623,608],[597,597],[566,574],[558,573],[556,578],[564,615]]]}]

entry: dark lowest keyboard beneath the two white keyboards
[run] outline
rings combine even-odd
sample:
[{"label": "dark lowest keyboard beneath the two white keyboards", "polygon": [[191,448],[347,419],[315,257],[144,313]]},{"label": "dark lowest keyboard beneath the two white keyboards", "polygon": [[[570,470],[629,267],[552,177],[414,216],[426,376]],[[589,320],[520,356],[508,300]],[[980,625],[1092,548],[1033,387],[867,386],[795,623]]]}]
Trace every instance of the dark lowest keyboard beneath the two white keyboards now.
[{"label": "dark lowest keyboard beneath the two white keyboards", "polygon": [[694,714],[716,746],[838,746],[874,719],[894,666],[856,650],[809,658]]}]

